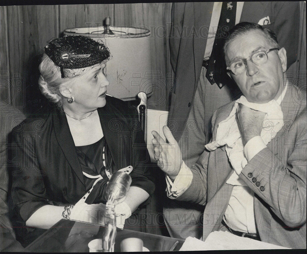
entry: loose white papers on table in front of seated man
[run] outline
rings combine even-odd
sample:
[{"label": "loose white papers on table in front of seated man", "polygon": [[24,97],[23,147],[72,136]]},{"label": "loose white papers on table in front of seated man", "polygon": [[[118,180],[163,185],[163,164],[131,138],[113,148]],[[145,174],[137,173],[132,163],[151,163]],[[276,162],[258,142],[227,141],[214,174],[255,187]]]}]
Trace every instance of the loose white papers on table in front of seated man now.
[{"label": "loose white papers on table in front of seated man", "polygon": [[286,247],[257,241],[247,237],[239,237],[229,232],[214,231],[206,241],[195,237],[185,239],[180,251],[200,250],[257,250],[257,249],[289,249]]}]

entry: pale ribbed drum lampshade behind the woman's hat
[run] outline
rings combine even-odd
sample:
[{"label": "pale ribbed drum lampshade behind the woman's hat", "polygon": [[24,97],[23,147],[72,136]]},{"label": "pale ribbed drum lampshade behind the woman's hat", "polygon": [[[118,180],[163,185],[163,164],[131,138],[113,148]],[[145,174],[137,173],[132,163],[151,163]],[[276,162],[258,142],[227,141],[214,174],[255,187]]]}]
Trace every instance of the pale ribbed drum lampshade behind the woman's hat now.
[{"label": "pale ribbed drum lampshade behind the woman's hat", "polygon": [[84,35],[100,40],[110,49],[111,60],[105,73],[110,85],[107,94],[122,100],[135,99],[139,92],[152,94],[150,31],[142,28],[110,26],[80,27],[64,30],[64,35]]}]

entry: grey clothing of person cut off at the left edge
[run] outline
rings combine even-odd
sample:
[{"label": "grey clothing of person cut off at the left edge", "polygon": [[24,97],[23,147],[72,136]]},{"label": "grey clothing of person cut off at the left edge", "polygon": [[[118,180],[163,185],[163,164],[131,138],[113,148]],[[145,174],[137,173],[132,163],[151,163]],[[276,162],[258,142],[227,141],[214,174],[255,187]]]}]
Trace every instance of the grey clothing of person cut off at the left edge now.
[{"label": "grey clothing of person cut off at the left edge", "polygon": [[15,107],[0,107],[0,251],[23,251],[14,238],[14,231],[7,215],[7,193],[9,176],[7,172],[8,133],[19,124],[25,116]]}]

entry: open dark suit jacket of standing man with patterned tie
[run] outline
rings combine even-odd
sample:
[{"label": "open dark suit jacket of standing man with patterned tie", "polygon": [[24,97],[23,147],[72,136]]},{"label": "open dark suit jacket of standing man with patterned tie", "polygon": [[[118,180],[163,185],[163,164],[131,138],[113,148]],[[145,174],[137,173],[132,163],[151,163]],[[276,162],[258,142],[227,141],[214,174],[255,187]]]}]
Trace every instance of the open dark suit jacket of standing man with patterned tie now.
[{"label": "open dark suit jacket of standing man with patterned tie", "polygon": [[[169,43],[176,79],[175,87],[172,88],[169,121],[176,123],[175,129],[171,130],[177,137],[181,137],[184,131],[199,81],[213,4],[214,2],[173,3],[173,25]],[[260,19],[269,16],[270,24],[264,27],[277,34],[279,45],[287,51],[289,67],[297,59],[299,15],[299,2],[244,2],[240,22],[258,23]],[[237,92],[239,90],[234,93]],[[212,94],[205,95],[205,108],[210,108],[206,105],[210,105],[212,100],[219,99],[211,97]],[[233,97],[235,99],[235,94]],[[210,123],[210,119],[207,120],[205,122]],[[206,133],[208,140],[210,136],[211,133]]]}]

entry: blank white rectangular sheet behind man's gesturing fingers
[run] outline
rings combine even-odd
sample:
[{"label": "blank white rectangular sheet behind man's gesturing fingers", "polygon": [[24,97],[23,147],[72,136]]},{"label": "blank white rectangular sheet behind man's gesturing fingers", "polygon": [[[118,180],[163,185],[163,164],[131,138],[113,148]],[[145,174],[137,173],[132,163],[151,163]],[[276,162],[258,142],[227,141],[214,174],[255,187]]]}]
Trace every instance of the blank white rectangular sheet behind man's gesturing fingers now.
[{"label": "blank white rectangular sheet behind man's gesturing fingers", "polygon": [[153,144],[151,143],[153,135],[151,132],[155,130],[165,140],[162,128],[167,124],[168,114],[168,111],[147,109],[147,150],[152,162],[155,162],[155,160],[153,157]]}]

